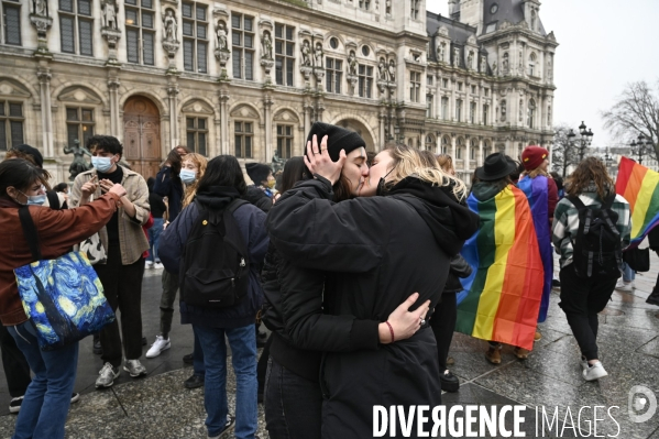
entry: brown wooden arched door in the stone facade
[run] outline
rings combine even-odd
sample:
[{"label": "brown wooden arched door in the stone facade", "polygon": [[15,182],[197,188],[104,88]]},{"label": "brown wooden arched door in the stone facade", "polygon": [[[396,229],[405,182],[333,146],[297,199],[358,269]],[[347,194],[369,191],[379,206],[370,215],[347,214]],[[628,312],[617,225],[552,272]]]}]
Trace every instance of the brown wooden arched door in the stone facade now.
[{"label": "brown wooden arched door in the stone facade", "polygon": [[157,174],[162,162],[161,114],[143,96],[133,96],[123,106],[123,154],[131,168],[144,178]]}]

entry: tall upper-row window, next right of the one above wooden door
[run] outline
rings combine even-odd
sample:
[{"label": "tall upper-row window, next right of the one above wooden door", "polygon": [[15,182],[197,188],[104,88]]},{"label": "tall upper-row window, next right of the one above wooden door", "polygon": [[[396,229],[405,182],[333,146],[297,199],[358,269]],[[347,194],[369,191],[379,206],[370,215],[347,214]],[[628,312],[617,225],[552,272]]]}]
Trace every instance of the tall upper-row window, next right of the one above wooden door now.
[{"label": "tall upper-row window, next right of the one above wooden door", "polygon": [[183,68],[186,72],[208,73],[207,7],[183,3]]}]

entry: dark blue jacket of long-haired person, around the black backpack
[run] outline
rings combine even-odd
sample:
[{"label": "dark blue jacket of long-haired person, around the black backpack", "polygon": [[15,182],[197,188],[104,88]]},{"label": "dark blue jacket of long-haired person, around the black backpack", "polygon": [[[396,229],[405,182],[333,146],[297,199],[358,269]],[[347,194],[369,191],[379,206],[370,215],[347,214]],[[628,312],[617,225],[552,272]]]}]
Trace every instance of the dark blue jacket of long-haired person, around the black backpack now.
[{"label": "dark blue jacket of long-haired person, around the black backpack", "polygon": [[[239,193],[230,187],[211,187],[208,190],[197,191],[196,197],[204,207],[213,210],[227,207],[235,198],[239,198]],[[168,272],[178,273],[184,246],[198,217],[199,208],[196,202],[193,202],[183,209],[174,222],[161,234],[158,255]],[[268,244],[265,231],[265,213],[252,205],[243,205],[235,209],[233,218],[238,222],[250,257],[248,296],[238,305],[221,309],[194,307],[182,301],[180,322],[184,325],[200,325],[209,328],[241,328],[254,323],[256,311],[263,301],[259,273]]]}]

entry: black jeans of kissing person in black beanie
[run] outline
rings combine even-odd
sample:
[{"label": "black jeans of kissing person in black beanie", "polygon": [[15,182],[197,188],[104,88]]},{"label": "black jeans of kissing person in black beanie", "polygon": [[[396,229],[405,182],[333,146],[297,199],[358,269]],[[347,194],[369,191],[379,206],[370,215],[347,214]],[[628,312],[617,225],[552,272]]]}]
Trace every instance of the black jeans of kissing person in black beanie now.
[{"label": "black jeans of kissing person in black beanie", "polygon": [[263,402],[271,439],[320,439],[322,392],[318,382],[296,375],[271,356]]}]

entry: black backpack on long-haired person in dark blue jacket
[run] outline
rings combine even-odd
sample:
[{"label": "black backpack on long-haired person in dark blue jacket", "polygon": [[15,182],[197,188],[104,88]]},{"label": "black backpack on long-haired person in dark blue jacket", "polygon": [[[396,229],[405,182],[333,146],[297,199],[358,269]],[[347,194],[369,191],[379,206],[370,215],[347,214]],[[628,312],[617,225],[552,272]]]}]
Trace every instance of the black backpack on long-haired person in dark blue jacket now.
[{"label": "black backpack on long-haired person in dark blue jacket", "polygon": [[233,212],[249,202],[234,199],[221,210],[195,204],[199,218],[183,251],[180,299],[205,308],[235,306],[248,295],[250,260]]}]

